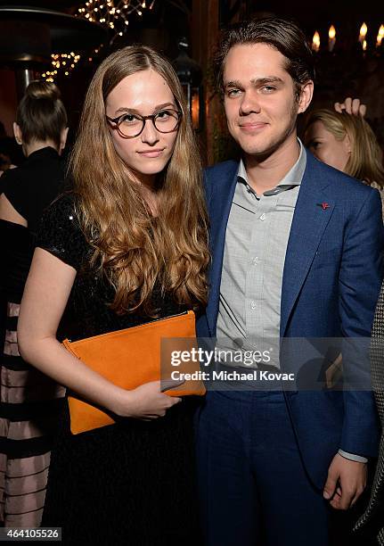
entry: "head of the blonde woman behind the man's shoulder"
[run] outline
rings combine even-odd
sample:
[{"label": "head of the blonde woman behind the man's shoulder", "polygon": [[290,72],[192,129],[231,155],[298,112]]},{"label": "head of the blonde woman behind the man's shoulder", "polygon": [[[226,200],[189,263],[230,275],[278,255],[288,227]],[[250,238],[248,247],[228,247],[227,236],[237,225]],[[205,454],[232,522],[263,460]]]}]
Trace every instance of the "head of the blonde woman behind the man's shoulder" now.
[{"label": "head of the blonde woman behind the man's shoulder", "polygon": [[310,112],[304,143],[320,161],[377,188],[384,202],[383,153],[362,113],[350,115],[329,109]]}]

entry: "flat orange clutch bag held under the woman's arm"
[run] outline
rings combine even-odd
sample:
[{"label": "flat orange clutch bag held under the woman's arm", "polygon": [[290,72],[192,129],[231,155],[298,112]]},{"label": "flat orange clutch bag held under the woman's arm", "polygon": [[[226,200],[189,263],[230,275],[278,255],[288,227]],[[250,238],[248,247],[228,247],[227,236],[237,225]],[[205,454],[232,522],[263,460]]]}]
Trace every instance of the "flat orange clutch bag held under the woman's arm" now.
[{"label": "flat orange clutch bag held under the woman's arm", "polygon": [[[170,379],[172,372],[177,370],[177,373],[188,374],[187,380],[176,389],[167,390],[168,395],[206,393],[200,380],[199,361],[182,362],[179,359],[177,368],[172,366],[173,352],[180,355],[197,346],[193,311],[73,343],[65,339],[62,343],[89,368],[124,389],[135,389],[150,381]],[[115,422],[102,409],[80,400],[75,393],[69,395],[68,401],[72,434]]]}]

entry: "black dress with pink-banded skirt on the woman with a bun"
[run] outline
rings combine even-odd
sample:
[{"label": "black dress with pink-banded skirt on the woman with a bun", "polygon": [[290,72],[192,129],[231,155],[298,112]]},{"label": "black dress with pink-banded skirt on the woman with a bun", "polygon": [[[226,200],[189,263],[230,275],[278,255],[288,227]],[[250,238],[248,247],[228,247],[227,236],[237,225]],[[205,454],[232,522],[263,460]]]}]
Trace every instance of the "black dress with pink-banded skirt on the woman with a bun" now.
[{"label": "black dress with pink-banded skirt on the woman with a bun", "polygon": [[[0,294],[6,317],[0,360],[0,525],[40,525],[50,451],[64,389],[21,359],[17,320],[39,219],[64,178],[51,147],[31,153],[0,178],[1,190],[28,227],[0,220]],[[5,309],[4,309],[5,308]]]}]

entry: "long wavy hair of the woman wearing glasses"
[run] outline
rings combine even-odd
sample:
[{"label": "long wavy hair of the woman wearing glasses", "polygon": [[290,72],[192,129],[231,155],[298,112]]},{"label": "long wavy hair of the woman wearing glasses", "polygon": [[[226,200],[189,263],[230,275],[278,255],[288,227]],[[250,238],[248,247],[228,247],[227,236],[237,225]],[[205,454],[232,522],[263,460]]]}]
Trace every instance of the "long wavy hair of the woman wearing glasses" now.
[{"label": "long wavy hair of the woman wearing glasses", "polygon": [[[149,69],[166,80],[183,114],[174,153],[159,175],[156,217],[118,156],[105,118],[112,89],[127,76]],[[206,304],[208,219],[200,154],[183,89],[160,54],[132,45],[102,62],[86,93],[69,173],[81,226],[94,247],[91,266],[115,289],[111,309],[156,316],[151,297],[155,285],[192,308]]]}]

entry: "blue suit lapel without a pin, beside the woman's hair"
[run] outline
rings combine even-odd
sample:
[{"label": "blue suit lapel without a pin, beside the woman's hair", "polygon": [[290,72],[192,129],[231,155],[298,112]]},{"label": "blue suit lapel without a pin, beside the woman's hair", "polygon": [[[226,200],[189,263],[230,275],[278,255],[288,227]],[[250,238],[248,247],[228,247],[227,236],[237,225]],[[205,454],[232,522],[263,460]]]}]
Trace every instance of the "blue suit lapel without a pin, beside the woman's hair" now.
[{"label": "blue suit lapel without a pin, beside the woman's hair", "polygon": [[208,327],[212,335],[216,335],[221,273],[225,249],[225,232],[236,188],[238,170],[239,164],[231,162],[225,170],[215,173],[216,183],[212,184],[213,191],[209,203],[209,247],[212,254],[212,267],[209,271],[210,293],[207,318]]}]

